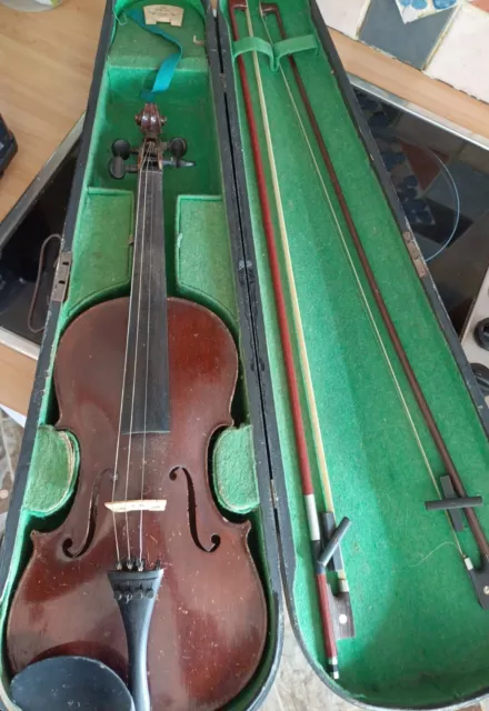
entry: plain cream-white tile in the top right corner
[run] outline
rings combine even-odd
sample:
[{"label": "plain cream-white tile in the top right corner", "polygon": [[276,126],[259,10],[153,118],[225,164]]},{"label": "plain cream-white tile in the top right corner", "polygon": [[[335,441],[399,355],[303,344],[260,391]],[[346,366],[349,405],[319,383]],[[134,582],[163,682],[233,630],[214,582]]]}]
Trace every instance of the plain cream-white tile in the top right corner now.
[{"label": "plain cream-white tile in the top right corner", "polygon": [[426,73],[489,102],[489,12],[467,4],[428,63]]}]

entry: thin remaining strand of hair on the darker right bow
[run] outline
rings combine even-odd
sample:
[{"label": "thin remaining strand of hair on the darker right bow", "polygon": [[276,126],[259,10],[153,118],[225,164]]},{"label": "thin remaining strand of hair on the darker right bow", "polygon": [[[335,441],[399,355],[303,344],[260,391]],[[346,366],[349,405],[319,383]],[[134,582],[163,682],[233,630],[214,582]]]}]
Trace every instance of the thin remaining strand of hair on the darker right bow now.
[{"label": "thin remaining strand of hair on the darker right bow", "polygon": [[[261,13],[260,13],[260,14],[261,14]],[[263,26],[265,26],[265,30],[266,30],[266,32],[267,32],[267,36],[268,36],[268,38],[269,38],[269,41],[270,41],[270,42],[272,42],[272,38],[271,38],[270,30],[268,29],[267,22],[266,22],[266,20],[265,20],[265,18],[263,18],[263,16],[262,16],[262,14],[261,14],[261,19],[262,19],[262,22],[263,22]],[[430,475],[430,479],[431,479],[431,481],[432,481],[432,483],[433,483],[435,490],[437,491],[437,493],[438,493],[439,498],[441,499],[441,498],[442,498],[442,495],[441,495],[440,488],[439,488],[438,482],[437,482],[437,479],[436,479],[436,477],[435,477],[435,473],[433,473],[432,467],[431,467],[431,464],[430,464],[430,462],[429,462],[428,454],[427,454],[426,449],[425,449],[425,447],[423,447],[423,444],[422,444],[422,441],[421,441],[420,434],[419,434],[418,429],[417,429],[417,427],[416,427],[416,423],[415,423],[415,420],[413,420],[412,414],[411,414],[411,412],[410,412],[409,405],[408,405],[408,403],[407,403],[407,401],[406,401],[406,398],[405,398],[405,394],[403,394],[403,392],[402,392],[401,385],[400,385],[400,383],[399,383],[398,377],[397,377],[397,374],[396,374],[396,371],[395,371],[393,364],[392,364],[392,362],[391,362],[391,359],[390,359],[390,357],[389,357],[389,353],[387,352],[387,348],[386,348],[386,344],[385,344],[385,342],[383,342],[383,338],[382,338],[382,336],[381,336],[381,333],[380,333],[379,327],[377,326],[376,318],[375,318],[375,316],[373,316],[373,312],[372,312],[371,307],[370,307],[370,304],[369,304],[369,301],[368,301],[367,294],[366,294],[366,292],[365,292],[363,286],[362,286],[362,283],[361,283],[360,276],[359,276],[359,273],[358,273],[358,271],[357,271],[357,268],[355,267],[355,262],[353,262],[353,259],[352,259],[352,257],[351,257],[351,252],[350,252],[350,250],[349,250],[349,248],[348,248],[347,240],[346,240],[346,237],[345,237],[345,234],[343,234],[343,230],[342,230],[341,224],[340,224],[340,222],[339,222],[339,220],[338,220],[338,217],[337,217],[337,213],[336,213],[335,207],[333,207],[333,204],[332,204],[332,200],[331,200],[331,198],[330,198],[330,196],[329,196],[329,192],[328,192],[328,189],[327,189],[327,187],[326,187],[326,183],[325,183],[325,180],[323,180],[323,177],[322,177],[321,170],[320,170],[320,168],[319,168],[319,166],[318,166],[318,161],[317,161],[317,159],[316,159],[316,153],[315,153],[313,148],[312,148],[312,146],[311,146],[311,142],[310,142],[310,140],[309,140],[309,136],[308,136],[307,130],[306,130],[306,127],[305,127],[305,124],[303,124],[302,117],[300,116],[300,111],[299,111],[299,108],[298,108],[298,106],[297,106],[296,99],[295,99],[295,97],[293,97],[292,90],[291,90],[291,88],[290,88],[289,80],[287,79],[287,76],[286,76],[286,73],[285,73],[283,68],[281,67],[281,64],[279,64],[279,67],[280,67],[280,73],[281,73],[281,76],[282,76],[282,79],[283,79],[285,86],[286,86],[286,88],[287,88],[287,92],[288,92],[288,94],[289,94],[289,99],[290,99],[291,104],[292,104],[292,107],[293,107],[293,109],[295,109],[295,112],[296,112],[297,119],[298,119],[298,121],[299,121],[299,124],[300,124],[300,128],[301,128],[301,131],[302,131],[303,138],[305,138],[305,140],[306,140],[307,146],[308,146],[308,149],[309,149],[309,152],[310,152],[310,154],[311,154],[312,161],[313,161],[313,163],[315,163],[316,172],[317,172],[317,174],[318,174],[318,177],[319,177],[319,180],[320,180],[320,182],[321,182],[322,191],[323,191],[325,197],[326,197],[326,199],[327,199],[327,201],[328,201],[330,212],[331,212],[331,214],[332,214],[333,221],[335,221],[336,227],[337,227],[337,231],[338,231],[338,233],[339,233],[339,236],[340,236],[340,238],[341,238],[341,246],[342,246],[343,252],[345,252],[345,254],[346,254],[346,257],[347,257],[347,259],[348,259],[348,262],[349,262],[349,264],[350,264],[351,271],[352,271],[352,273],[353,273],[353,276],[355,276],[355,280],[356,280],[356,282],[357,282],[358,290],[359,290],[360,296],[361,296],[361,298],[362,298],[363,308],[365,308],[365,310],[366,310],[366,312],[367,312],[367,314],[368,314],[368,317],[369,317],[369,320],[371,321],[371,324],[372,324],[372,327],[373,327],[373,331],[375,331],[375,334],[376,334],[376,338],[377,338],[378,344],[379,344],[380,350],[381,350],[381,352],[382,352],[382,356],[383,356],[383,358],[385,358],[385,360],[386,360],[386,363],[387,363],[387,365],[388,365],[388,368],[389,368],[389,372],[390,372],[391,379],[392,379],[392,381],[393,381],[393,383],[395,383],[395,387],[396,387],[396,390],[397,390],[398,397],[399,397],[399,399],[400,399],[400,401],[401,401],[401,403],[402,403],[402,407],[403,407],[403,410],[405,410],[406,415],[407,415],[407,418],[408,418],[409,424],[410,424],[410,427],[411,427],[411,429],[412,429],[412,432],[413,432],[413,435],[415,435],[415,439],[416,439],[417,445],[418,445],[418,448],[419,448],[419,451],[420,451],[421,457],[422,457],[422,459],[423,459],[423,462],[425,462],[425,464],[426,464],[427,471],[428,471],[428,473],[429,473],[429,475]],[[449,524],[450,524],[450,530],[451,530],[451,533],[452,533],[452,535],[453,535],[453,539],[455,539],[455,542],[456,542],[456,547],[458,548],[458,551],[459,551],[460,555],[461,555],[462,558],[465,558],[465,554],[463,554],[463,552],[462,552],[462,549],[461,549],[460,542],[459,542],[459,540],[458,540],[458,537],[457,537],[457,534],[456,534],[456,531],[453,530],[453,525],[452,525],[452,523],[451,523],[451,519],[450,519],[450,517],[448,515],[448,512],[447,512],[447,511],[446,511],[445,513],[446,513],[446,518],[447,518],[447,520],[448,520],[448,522],[449,522]]]}]

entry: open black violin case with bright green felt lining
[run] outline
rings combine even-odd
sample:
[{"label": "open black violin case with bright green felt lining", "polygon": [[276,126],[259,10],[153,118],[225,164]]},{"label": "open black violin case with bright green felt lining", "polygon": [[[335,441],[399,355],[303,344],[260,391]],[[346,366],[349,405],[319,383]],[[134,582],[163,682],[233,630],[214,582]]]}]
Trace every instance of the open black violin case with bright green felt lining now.
[{"label": "open black violin case with bright green felt lining", "polygon": [[[184,137],[187,158],[196,167],[164,173],[169,290],[214,311],[239,348],[234,427],[217,438],[211,477],[221,511],[231,520],[251,521],[250,548],[268,602],[260,668],[228,708],[238,711],[263,703],[280,662],[285,603],[309,663],[348,701],[366,708],[433,709],[480,700],[489,690],[489,611],[473,593],[447,515],[426,510],[425,502],[437,498],[428,470],[438,479],[443,467],[361,266],[339,238],[339,206],[335,199],[330,206],[320,190],[279,71],[288,53],[293,53],[348,209],[439,430],[468,492],[485,503],[489,501],[488,412],[318,6],[315,0],[310,4],[281,0],[283,23],[298,41],[279,57],[265,33],[257,0],[249,0],[249,10],[255,34],[262,41],[259,47],[233,43],[226,0],[217,11],[199,0],[176,4],[184,10],[183,23],[166,26],[164,31],[181,43],[182,58],[158,104],[168,117],[166,134]],[[110,177],[111,144],[117,138],[138,144],[133,116],[143,106],[141,92],[174,52],[174,46],[126,16],[128,8],[142,6],[116,0],[112,8],[108,0],[101,30],[1,551],[4,709],[11,708],[6,653],[9,605],[32,550],[30,533],[59,525],[77,487],[77,443],[69,432],[54,429],[57,344],[78,314],[127,294],[130,283],[136,180],[118,182]],[[244,20],[241,28],[246,36]],[[263,51],[267,42],[271,51]],[[336,517],[351,520],[341,552],[355,635],[338,641],[338,680],[326,667],[283,352],[237,68],[239,52],[258,112],[252,69],[257,47]],[[265,134],[261,138],[266,156]],[[270,173],[266,179],[272,194]],[[292,318],[290,290],[286,284]],[[293,338],[297,341],[296,330]],[[297,342],[293,346],[298,348]],[[310,438],[311,413],[300,383]],[[322,483],[312,468],[318,507],[325,509]],[[489,531],[489,507],[479,508],[478,515]],[[478,552],[467,525],[458,540],[477,567]]]}]

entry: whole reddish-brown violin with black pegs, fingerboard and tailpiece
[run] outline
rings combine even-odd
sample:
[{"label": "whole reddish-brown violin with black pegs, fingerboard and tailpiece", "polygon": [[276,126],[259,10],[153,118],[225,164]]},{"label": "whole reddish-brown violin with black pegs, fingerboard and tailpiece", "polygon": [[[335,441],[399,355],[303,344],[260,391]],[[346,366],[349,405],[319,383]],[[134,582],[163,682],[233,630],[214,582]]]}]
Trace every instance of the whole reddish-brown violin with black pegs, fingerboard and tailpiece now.
[{"label": "whole reddish-brown violin with black pegs, fingerboard and tailpiece", "polygon": [[109,166],[138,173],[130,296],[60,339],[57,429],[78,441],[78,484],[64,522],[32,533],[8,657],[13,673],[88,657],[129,683],[138,711],[208,711],[246,687],[267,635],[250,523],[222,517],[208,472],[212,434],[232,424],[238,353],[214,313],[167,293],[163,168],[193,163],[183,139],[162,140],[156,104],[136,121],[141,146],[116,141]]}]

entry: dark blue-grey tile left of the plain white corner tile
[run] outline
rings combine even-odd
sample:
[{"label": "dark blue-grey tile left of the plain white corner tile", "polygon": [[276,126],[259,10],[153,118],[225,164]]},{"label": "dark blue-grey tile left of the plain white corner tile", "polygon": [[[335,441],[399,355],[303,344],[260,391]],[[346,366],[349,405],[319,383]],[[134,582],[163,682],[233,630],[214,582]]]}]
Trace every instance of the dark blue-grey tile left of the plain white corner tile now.
[{"label": "dark blue-grey tile left of the plain white corner tile", "polygon": [[372,0],[360,40],[421,69],[452,13],[453,10],[437,12],[405,24],[392,0]]}]

